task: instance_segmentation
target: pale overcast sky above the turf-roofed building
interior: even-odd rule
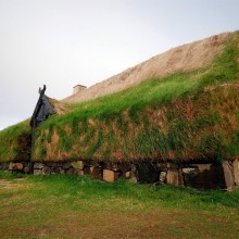
[[[0,0],[0,130],[173,47],[239,29],[238,0]]]

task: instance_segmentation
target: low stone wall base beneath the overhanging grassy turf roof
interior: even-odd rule
[[[25,162],[4,163],[0,164],[0,171],[29,173],[29,165]],[[231,190],[239,186],[239,161],[224,162],[222,165],[147,161],[136,163],[35,162],[34,174],[90,175],[93,179],[104,181],[125,178],[146,184],[160,183],[199,189],[227,188]]]

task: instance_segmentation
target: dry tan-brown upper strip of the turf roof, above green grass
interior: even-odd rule
[[[90,88],[74,93],[63,99],[62,102],[72,103],[91,100],[136,86],[153,77],[160,78],[173,73],[188,72],[206,66],[222,51],[230,34],[223,33],[203,40],[173,48]]]

